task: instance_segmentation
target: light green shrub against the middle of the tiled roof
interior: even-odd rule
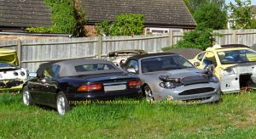
[[[96,24],[96,32],[98,35],[106,36],[141,35],[144,22],[143,14],[119,14],[112,24],[108,20]]]

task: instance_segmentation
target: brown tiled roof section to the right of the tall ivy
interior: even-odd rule
[[[183,0],[82,0],[90,22],[113,21],[117,14],[144,14],[148,26],[195,27]]]

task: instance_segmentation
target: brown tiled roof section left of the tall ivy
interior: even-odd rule
[[[0,27],[49,26],[50,17],[44,0],[0,0]]]

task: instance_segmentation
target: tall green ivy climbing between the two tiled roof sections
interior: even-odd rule
[[[51,8],[51,27],[32,27],[26,31],[41,33],[67,33],[84,36],[85,14],[77,3],[78,0],[44,0]]]

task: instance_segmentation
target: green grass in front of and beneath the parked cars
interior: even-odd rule
[[[90,104],[60,116],[0,95],[0,138],[254,138],[256,92],[200,105]]]

